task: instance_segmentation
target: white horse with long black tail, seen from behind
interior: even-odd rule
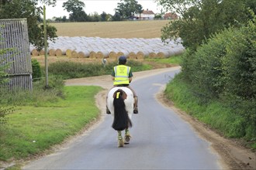
[[[133,104],[133,92],[128,87],[113,87],[109,90],[107,107],[113,116],[112,128],[118,132],[118,147],[130,143],[129,128],[132,127]],[[123,130],[125,130],[124,140]]]

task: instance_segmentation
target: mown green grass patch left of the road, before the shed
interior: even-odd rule
[[[65,98],[16,107],[2,126],[0,160],[39,154],[80,131],[99,116],[92,100],[99,90],[102,88],[64,87]]]

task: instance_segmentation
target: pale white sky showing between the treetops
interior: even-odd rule
[[[85,3],[85,12],[86,14],[91,14],[94,12],[98,12],[98,14],[102,14],[102,12],[106,12],[107,14],[114,15],[114,9],[117,7],[117,3],[120,0],[80,0]],[[56,6],[46,6],[46,17],[47,19],[52,19],[54,16],[63,17],[64,15],[69,16],[69,13],[62,8],[62,4],[67,2],[67,0],[57,0]],[[157,3],[154,0],[137,0],[138,4],[142,5],[145,10],[151,10],[154,13],[161,12],[161,7],[157,6]]]

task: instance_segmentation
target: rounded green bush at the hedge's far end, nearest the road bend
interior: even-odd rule
[[[182,68],[185,76],[189,77],[194,90],[203,100],[219,97],[223,91],[225,79],[221,61],[227,54],[227,43],[233,35],[225,30],[200,46],[195,53],[188,52],[184,57]]]

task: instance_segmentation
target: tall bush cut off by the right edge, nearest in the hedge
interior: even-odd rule
[[[223,58],[225,90],[237,97],[256,97],[256,19],[233,32],[227,44],[227,55]]]

